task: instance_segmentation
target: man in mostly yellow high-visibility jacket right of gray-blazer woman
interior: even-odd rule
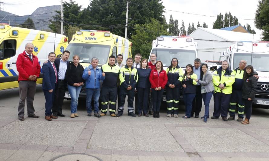
[[[222,61],[222,66],[213,72],[212,79],[214,84],[214,113],[212,119],[219,118],[228,121],[228,108],[232,95],[232,84],[235,82],[235,73],[228,69],[228,62]]]

